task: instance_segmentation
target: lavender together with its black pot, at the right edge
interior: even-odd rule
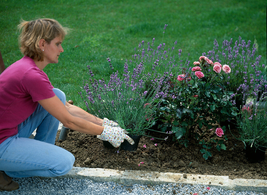
[[[256,94],[255,91],[253,95]],[[245,156],[250,162],[260,162],[265,159],[267,148],[266,98],[265,88],[260,101],[256,102],[257,96],[253,96],[238,113],[237,124],[240,137],[237,139],[244,143]]]

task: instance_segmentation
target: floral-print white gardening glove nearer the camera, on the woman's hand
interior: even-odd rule
[[[104,130],[101,133],[101,135],[97,135],[97,138],[108,141],[112,144],[114,147],[119,147],[120,144],[126,139],[131,145],[134,144],[134,141],[132,138],[130,138],[128,135],[126,135],[127,131],[120,127],[111,127],[104,125]]]

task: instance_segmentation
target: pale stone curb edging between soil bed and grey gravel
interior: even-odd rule
[[[116,182],[123,185],[160,185],[168,183],[199,184],[208,187],[234,191],[254,191],[267,193],[267,180],[229,179],[228,176],[163,173],[153,171],[114,170],[102,168],[73,167],[66,175],[52,179],[88,179],[94,182]]]

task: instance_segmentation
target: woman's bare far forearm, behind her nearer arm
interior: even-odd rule
[[[66,102],[65,107],[72,116],[77,116],[77,117],[80,117],[82,119],[88,120],[92,123],[95,123],[97,125],[102,126],[103,119],[100,119],[94,115],[91,115],[88,112],[86,112],[85,110],[83,110],[77,106],[74,106],[72,104],[69,104],[68,102]]]

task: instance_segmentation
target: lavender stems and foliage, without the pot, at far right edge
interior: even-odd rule
[[[267,72],[265,68],[263,74],[259,74],[255,64],[252,68],[255,71],[254,74],[244,75],[244,83],[237,89],[242,94],[244,105],[236,113],[240,135],[237,139],[245,145],[248,143],[251,147],[267,147],[267,81],[264,77]],[[250,82],[248,83],[247,80]]]

